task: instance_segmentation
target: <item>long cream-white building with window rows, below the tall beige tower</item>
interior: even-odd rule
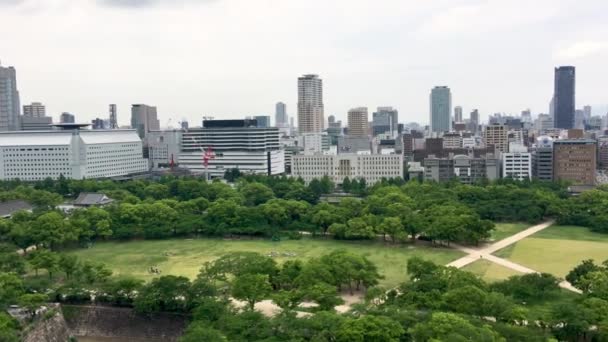
[[[346,177],[374,184],[382,178],[403,177],[403,156],[380,154],[298,155],[293,157],[292,175],[306,183],[328,176],[340,185]]]

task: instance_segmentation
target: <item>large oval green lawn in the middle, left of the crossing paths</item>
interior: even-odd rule
[[[116,275],[130,275],[141,279],[153,278],[148,270],[158,266],[162,274],[196,277],[201,266],[227,252],[250,251],[262,254],[293,252],[296,258],[319,257],[336,249],[367,256],[385,279],[382,286],[392,287],[407,280],[407,260],[423,257],[438,264],[447,264],[464,254],[450,249],[422,245],[389,245],[376,242],[343,242],[336,240],[302,239],[272,242],[269,240],[190,239],[161,241],[131,241],[98,243],[90,249],[70,252],[82,260],[103,262]],[[278,262],[290,258],[276,258]]]

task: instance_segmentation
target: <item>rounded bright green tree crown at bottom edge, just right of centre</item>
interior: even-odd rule
[[[344,321],[338,328],[336,340],[339,342],[397,342],[404,333],[405,330],[401,325],[388,317],[366,315]]]

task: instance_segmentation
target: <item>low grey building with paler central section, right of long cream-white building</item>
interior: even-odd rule
[[[500,161],[490,156],[475,158],[454,155],[449,158],[430,157],[424,160],[426,181],[447,182],[458,179],[463,184],[473,184],[484,179],[500,177]]]

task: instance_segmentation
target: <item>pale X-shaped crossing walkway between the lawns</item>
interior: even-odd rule
[[[489,246],[484,246],[481,248],[471,248],[471,247],[465,247],[465,246],[460,246],[460,245],[454,244],[454,245],[452,245],[452,247],[454,247],[464,253],[467,253],[467,255],[458,260],[452,261],[451,263],[447,264],[447,266],[463,268],[466,265],[474,263],[475,261],[485,259],[485,260],[493,262],[497,265],[500,265],[500,266],[503,266],[506,268],[510,268],[510,269],[515,270],[520,273],[539,273],[538,271],[535,271],[531,268],[522,266],[520,264],[516,264],[512,261],[509,261],[509,260],[506,260],[503,258],[499,258],[495,255],[492,255],[492,253],[494,253],[498,250],[501,250],[505,247],[508,247],[518,241],[521,241],[530,235],[536,234],[536,233],[540,232],[541,230],[550,227],[551,225],[553,225],[553,223],[554,223],[553,221],[547,221],[545,223],[541,223],[536,226],[532,226],[517,234],[511,235],[508,238],[505,238],[494,244],[491,244]],[[572,284],[570,284],[567,281],[561,282],[559,284],[559,286],[563,289],[566,289],[566,290],[569,290],[572,292],[581,293],[581,291],[579,289],[575,288],[574,286],[572,286]]]

